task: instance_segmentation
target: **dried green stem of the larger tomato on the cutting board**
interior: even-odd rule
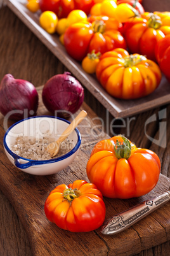
[[[131,156],[131,143],[129,142],[129,139],[122,135],[121,138],[123,139],[123,142],[120,142],[118,139],[116,140],[114,146],[115,155],[118,159],[128,159]]]

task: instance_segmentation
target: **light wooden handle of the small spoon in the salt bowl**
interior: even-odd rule
[[[67,127],[67,129],[65,129],[65,131],[62,133],[62,135],[60,136],[60,138],[57,139],[57,142],[62,142],[64,141],[67,136],[69,136],[70,133],[72,133],[72,131],[74,131],[75,127],[77,127],[78,124],[80,124],[80,122],[82,121],[82,119],[84,119],[84,117],[86,117],[87,112],[85,110],[82,110],[77,117],[74,118],[74,120],[72,120],[71,124]]]

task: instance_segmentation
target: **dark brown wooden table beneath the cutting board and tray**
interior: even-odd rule
[[[15,78],[29,80],[39,87],[51,76],[66,70],[63,64],[8,7],[0,9],[0,80],[6,73],[11,73]],[[87,90],[85,90],[84,101],[98,117],[104,120],[105,131],[110,136],[124,134],[131,138],[131,141],[135,141],[138,147],[150,148],[157,153],[162,164],[162,174],[170,178],[170,123],[168,118],[170,106],[162,106],[131,118],[115,120]],[[112,122],[112,127],[109,125],[110,122]],[[1,172],[3,172],[3,157],[4,154],[1,152]],[[22,221],[1,191],[0,200],[0,255],[34,255]],[[167,238],[169,236],[168,230]],[[168,252],[170,252],[170,243],[166,241],[161,245],[143,250],[138,255],[168,255]]]

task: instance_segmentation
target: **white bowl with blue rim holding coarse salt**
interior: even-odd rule
[[[70,122],[63,118],[50,116],[37,116],[20,120],[11,125],[8,131],[6,131],[3,141],[4,151],[11,163],[25,173],[34,175],[58,173],[58,171],[69,166],[79,151],[81,134],[77,128],[68,137],[74,143],[74,148],[61,157],[49,160],[30,160],[16,155],[10,148],[11,145],[15,144],[16,137],[18,136],[38,136],[42,138],[46,131],[49,131],[51,134],[55,132],[55,134],[61,135],[69,124]]]

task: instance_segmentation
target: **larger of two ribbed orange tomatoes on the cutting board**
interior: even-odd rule
[[[88,160],[87,174],[103,196],[139,197],[157,184],[160,160],[151,150],[136,148],[124,136],[114,136],[95,145]]]

